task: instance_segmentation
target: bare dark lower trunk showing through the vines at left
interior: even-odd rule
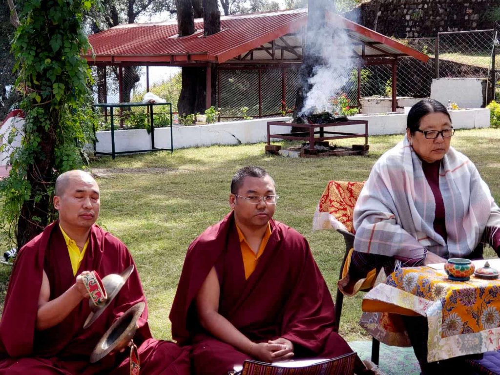
[[[59,126],[59,112],[52,110],[48,114],[48,121],[50,123],[48,131],[45,130],[43,125],[38,125],[36,129],[38,134],[43,134],[43,142],[39,143],[40,152],[36,153],[38,156],[29,164],[27,170],[27,180],[31,184],[31,196],[29,200],[25,200],[22,204],[19,219],[17,220],[16,241],[18,249],[39,234],[52,219],[49,214],[51,211],[51,194],[47,190],[52,187],[48,183],[48,181],[52,180],[51,175],[55,163],[56,139],[52,129]],[[41,155],[44,157],[40,157]],[[33,197],[37,193],[42,193],[42,198],[37,202],[33,202]],[[34,218],[39,218],[39,221]]]

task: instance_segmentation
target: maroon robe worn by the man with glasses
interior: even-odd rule
[[[193,301],[213,266],[220,284],[218,312],[250,340],[287,338],[295,357],[352,352],[334,330],[333,301],[307,241],[281,222],[271,219],[270,225],[265,250],[247,280],[232,212],[187,250],[170,320],[173,338],[192,344],[197,375],[222,375],[250,358],[198,323]]]

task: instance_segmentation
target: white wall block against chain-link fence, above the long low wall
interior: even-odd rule
[[[438,78],[432,79],[430,97],[444,106],[448,100],[460,108],[480,108],[483,104],[483,79],[480,78]]]

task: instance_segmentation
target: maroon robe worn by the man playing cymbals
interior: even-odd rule
[[[93,225],[76,274],[96,270],[105,276],[120,273],[130,264],[134,262],[125,245]],[[135,303],[145,302],[137,269],[90,327],[83,329],[90,313],[85,298],[60,323],[39,331],[35,328],[35,321],[42,270],[48,276],[50,300],[60,296],[75,282],[67,245],[57,221],[24,245],[14,262],[0,322],[0,374],[128,373],[128,350],[107,355],[94,364],[88,359],[113,321]],[[188,373],[187,350],[173,342],[151,338],[147,306],[137,324],[139,328],[134,342],[140,345],[139,356],[144,371],[150,374]]]

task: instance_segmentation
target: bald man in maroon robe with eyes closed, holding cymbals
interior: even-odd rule
[[[0,322],[0,374],[128,374],[128,350],[89,363],[89,355],[113,321],[144,292],[135,269],[104,312],[83,329],[90,313],[82,273],[120,273],[134,264],[125,245],[95,225],[99,187],[81,170],[62,173],[53,198],[59,219],[24,245],[14,262]],[[141,373],[189,373],[186,349],[155,340],[147,307],[133,337]]]

